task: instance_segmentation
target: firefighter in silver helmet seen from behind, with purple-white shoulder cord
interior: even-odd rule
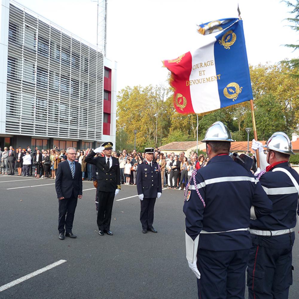
[[[251,212],[272,211],[257,179],[229,157],[232,141],[222,122],[213,123],[202,141],[209,167],[197,170],[185,193],[186,257],[201,299],[244,298]]]

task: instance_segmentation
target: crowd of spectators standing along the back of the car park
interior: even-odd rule
[[[82,180],[92,181],[92,165],[85,162],[85,157],[92,149],[77,150],[77,158],[75,161],[81,164]],[[39,178],[56,178],[56,170],[58,164],[66,160],[64,149],[54,147],[54,149],[42,149],[36,147],[33,151],[28,146],[27,149],[21,147],[14,150],[12,147],[4,151],[0,148],[0,173],[3,175],[12,175],[8,160],[11,156],[15,157],[14,169],[18,176],[35,176]],[[120,182],[125,185],[136,185],[136,172],[138,165],[144,161],[144,153],[112,152],[112,156],[118,158],[120,166]],[[209,158],[204,155],[197,155],[191,151],[188,156],[185,152],[179,155],[172,153],[162,153],[158,148],[155,149],[154,161],[156,161],[161,170],[162,186],[176,189],[185,188],[189,181],[192,171],[205,167]]]

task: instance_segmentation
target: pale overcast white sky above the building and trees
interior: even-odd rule
[[[18,2],[96,44],[97,1]],[[284,21],[290,8],[278,0],[108,0],[107,58],[118,62],[118,91],[164,83],[168,71],[161,60],[196,49],[196,25],[237,17],[238,3],[251,65],[298,57],[283,47],[298,43],[298,34]]]

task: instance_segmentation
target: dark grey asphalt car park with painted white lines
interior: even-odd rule
[[[84,181],[77,239],[59,240],[54,180],[0,175],[1,299],[197,298],[185,257],[183,191],[165,189],[157,199],[157,234],[141,232],[136,186],[122,185],[115,197],[113,236],[98,235],[94,198]],[[290,299],[298,298],[298,248],[297,236]]]

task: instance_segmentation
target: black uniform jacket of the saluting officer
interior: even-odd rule
[[[90,164],[94,164],[97,167],[97,190],[102,192],[112,192],[115,189],[120,189],[120,169],[119,161],[117,158],[112,158],[112,166],[108,170],[106,166],[105,157],[96,157],[94,151],[91,151],[86,156],[85,161]]]

